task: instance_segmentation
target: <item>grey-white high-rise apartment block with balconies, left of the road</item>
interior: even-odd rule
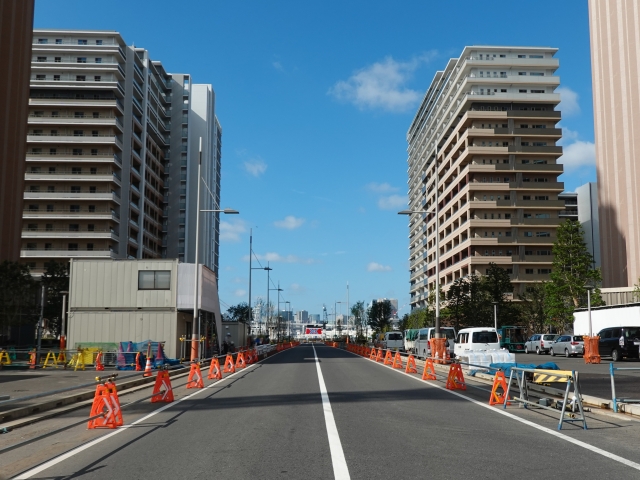
[[[210,85],[167,73],[117,32],[35,30],[28,128],[21,258],[34,273],[75,257],[193,262],[199,137],[213,199],[201,208],[219,204]],[[218,217],[207,221],[199,263],[217,275]]]

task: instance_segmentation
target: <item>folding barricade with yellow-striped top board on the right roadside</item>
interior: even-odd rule
[[[587,419],[584,416],[584,410],[582,408],[582,394],[580,393],[580,382],[578,381],[578,372],[574,370],[539,370],[536,368],[521,368],[511,367],[511,373],[509,374],[509,381],[507,382],[507,391],[505,398],[509,398],[509,392],[511,390],[511,382],[515,376],[518,382],[518,389],[520,391],[519,397],[511,398],[511,401],[520,402],[524,408],[528,405],[535,405],[536,408],[543,408],[546,410],[557,411],[557,409],[541,405],[540,403],[532,402],[529,400],[528,379],[527,377],[533,374],[534,380],[540,381],[542,378],[553,375],[556,379],[562,378],[566,382],[567,387],[564,392],[562,400],[562,408],[560,411],[560,419],[558,421],[558,430],[562,430],[562,424],[564,422],[582,422],[582,428],[587,429]],[[573,386],[573,399],[569,402],[570,389]],[[567,411],[568,404],[571,404],[571,412]],[[507,402],[503,404],[503,408],[507,408]],[[576,408],[578,412],[576,413]]]

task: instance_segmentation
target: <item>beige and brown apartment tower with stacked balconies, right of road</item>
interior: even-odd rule
[[[433,212],[410,217],[412,308],[490,262],[516,294],[549,279],[564,209],[556,51],[466,47],[436,73],[407,133],[409,207]]]

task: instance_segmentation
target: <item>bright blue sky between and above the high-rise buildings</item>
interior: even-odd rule
[[[248,300],[249,230],[293,310],[409,310],[405,134],[466,45],[559,48],[567,190],[595,181],[585,0],[36,0],[36,28],[119,31],[216,92],[223,127],[220,299]],[[259,266],[254,262],[254,266]],[[252,298],[266,297],[254,270]],[[272,292],[271,299],[275,300]],[[284,305],[281,304],[284,308]]]

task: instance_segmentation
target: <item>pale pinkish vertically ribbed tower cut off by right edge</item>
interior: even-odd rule
[[[602,286],[640,276],[640,14],[637,0],[589,0]]]

